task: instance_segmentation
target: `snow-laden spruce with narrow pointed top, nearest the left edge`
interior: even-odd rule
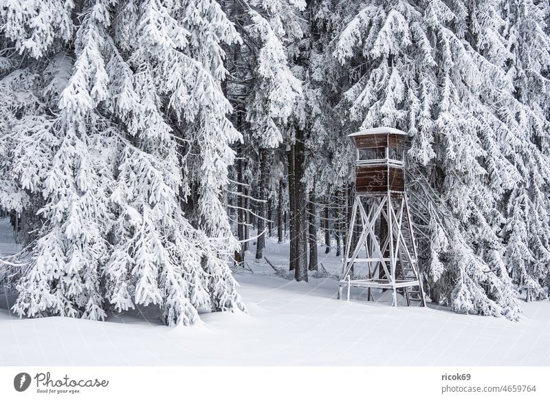
[[[107,98],[107,76],[94,29],[85,21],[78,30],[72,76],[59,96],[52,93],[58,100],[56,115],[25,115],[14,126],[21,131],[14,173],[23,190],[43,197],[37,210],[43,225],[17,285],[13,309],[19,315],[105,317],[100,276],[109,254],[104,232],[112,221],[109,192],[117,138],[109,121],[94,112]],[[47,47],[38,43],[28,52],[42,56]],[[50,67],[68,69],[63,58]]]

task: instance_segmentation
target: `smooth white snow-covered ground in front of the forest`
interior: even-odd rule
[[[268,241],[267,258],[286,267],[288,245]],[[320,261],[338,267],[331,252]],[[523,303],[525,315],[457,315],[444,307],[389,307],[356,289],[336,300],[337,281],[274,275],[264,261],[235,275],[244,313],[203,314],[203,324],[168,328],[150,307],[107,322],[19,320],[14,293],[0,290],[1,365],[550,365],[550,301]]]

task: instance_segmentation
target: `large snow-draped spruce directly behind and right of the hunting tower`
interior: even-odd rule
[[[499,236],[505,200],[516,187],[525,190],[533,173],[520,164],[538,159],[536,173],[543,173],[547,161],[532,145],[533,132],[518,129],[522,114],[501,113],[511,103],[524,114],[533,109],[516,99],[507,74],[514,55],[503,34],[502,3],[377,1],[353,11],[348,2],[333,8],[326,1],[320,10],[336,11],[327,24],[336,26],[335,56],[357,71],[344,93],[349,118],[364,128],[409,131],[412,173],[426,177],[442,197],[434,207],[448,208],[456,219],[445,229],[442,221],[428,225],[430,235],[439,226],[447,239],[443,246],[426,243],[432,297],[455,311],[516,319],[519,306],[509,280],[491,265],[494,251],[507,251]],[[527,144],[513,153],[511,138]]]

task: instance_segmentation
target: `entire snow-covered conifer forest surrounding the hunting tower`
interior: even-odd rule
[[[262,266],[343,304],[348,135],[380,126],[428,305],[548,304],[548,0],[0,0],[5,310],[238,320]]]

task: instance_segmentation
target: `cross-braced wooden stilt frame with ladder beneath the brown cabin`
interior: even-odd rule
[[[351,252],[349,238],[353,235],[358,213],[362,231],[355,249]],[[380,219],[388,227],[384,243],[380,243],[375,233],[375,226]],[[362,248],[365,250],[366,257],[358,258]],[[373,298],[372,288],[390,289],[393,291],[392,305],[397,306],[397,290],[400,289],[408,305],[410,300],[419,300],[420,305],[425,307],[426,301],[417,259],[417,246],[406,193],[388,191],[380,196],[355,196],[346,252],[342,260],[342,278],[338,285],[338,298],[342,298],[344,287],[347,287],[347,300],[349,300],[351,287],[367,288],[369,300]],[[354,278],[354,263],[366,263],[368,271],[366,278]]]

